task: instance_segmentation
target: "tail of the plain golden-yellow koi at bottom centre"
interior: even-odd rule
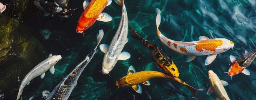
[[[197,91],[203,91],[204,89],[196,89],[196,88],[194,88],[194,87],[192,87],[192,86],[190,86],[190,85],[188,85],[186,82],[183,82],[181,79],[179,79],[178,77],[175,77],[174,78],[177,82],[179,82],[179,83],[181,83],[181,84],[183,84],[183,85],[185,85],[187,88],[188,88],[188,90],[195,96],[195,98],[196,99],[198,99],[198,100],[201,100],[200,99],[200,97],[197,95]]]

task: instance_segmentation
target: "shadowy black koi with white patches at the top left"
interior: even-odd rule
[[[45,0],[34,0],[34,5],[38,9],[44,11],[44,16],[58,15],[60,17],[69,18],[75,11],[68,6],[58,5],[56,2],[48,2]]]

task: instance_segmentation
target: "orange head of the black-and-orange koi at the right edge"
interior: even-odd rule
[[[228,69],[228,75],[233,77],[234,75],[239,74],[242,72],[244,67],[241,67],[237,61],[232,62],[231,66]]]

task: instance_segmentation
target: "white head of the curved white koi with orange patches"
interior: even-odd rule
[[[233,49],[234,47],[234,42],[225,38],[217,38],[217,40],[221,40],[222,44],[216,48],[215,53],[222,53],[225,52],[229,49]]]

